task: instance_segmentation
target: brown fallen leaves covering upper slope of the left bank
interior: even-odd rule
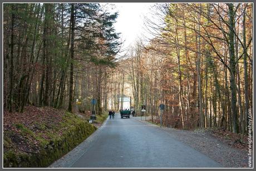
[[[48,134],[53,133],[51,128],[56,127],[63,120],[63,115],[65,115],[64,110],[35,106],[27,106],[23,113],[4,112],[3,133],[10,139],[11,144],[4,147],[4,151],[12,149],[14,152],[39,152],[40,141],[35,136],[49,140],[51,137]],[[62,131],[57,134],[61,136]]]

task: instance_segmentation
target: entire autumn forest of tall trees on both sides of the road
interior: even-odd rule
[[[26,106],[119,110],[124,84],[164,126],[247,134],[253,108],[253,3],[160,3],[117,58],[118,13],[97,3],[3,4],[4,115]],[[146,43],[147,42],[147,43]]]

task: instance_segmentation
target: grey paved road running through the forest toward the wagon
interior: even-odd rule
[[[86,149],[68,167],[72,168],[215,168],[213,159],[176,141],[155,125],[135,118],[109,118],[89,138]]]

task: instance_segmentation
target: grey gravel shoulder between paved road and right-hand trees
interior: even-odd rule
[[[132,117],[135,120],[152,125],[150,122],[141,121],[140,117]],[[227,143],[220,141],[212,136],[208,131],[196,129],[195,131],[159,127],[169,134],[170,137],[177,139],[206,156],[219,162],[227,168],[244,168],[248,167],[247,151],[229,146]]]

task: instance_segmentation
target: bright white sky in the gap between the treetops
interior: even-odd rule
[[[134,44],[138,37],[148,34],[144,27],[145,16],[150,15],[150,9],[154,3],[111,3],[114,11],[119,12],[114,25],[116,32],[121,33],[121,41],[124,42],[122,50]],[[124,55],[125,51],[119,53]]]

